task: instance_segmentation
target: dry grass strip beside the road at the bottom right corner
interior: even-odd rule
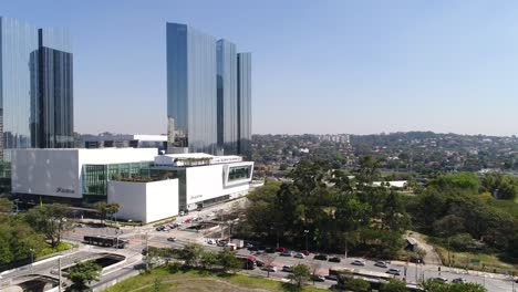
[[[435,246],[435,250],[438,252],[443,264],[448,265],[447,249]],[[494,270],[496,269],[497,272],[500,273],[505,271],[515,271],[515,273],[518,273],[518,265],[503,262],[498,259],[497,255],[494,254],[450,251],[450,255],[454,259],[452,267],[455,268],[465,268],[466,264],[468,264],[468,268],[470,270],[481,271],[484,264],[485,271],[487,272],[494,272]],[[480,262],[478,264],[469,263],[470,259],[478,259],[480,260]]]

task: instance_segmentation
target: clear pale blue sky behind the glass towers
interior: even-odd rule
[[[518,132],[518,1],[2,0],[68,27],[75,129],[166,132],[165,22],[253,53],[253,133]]]

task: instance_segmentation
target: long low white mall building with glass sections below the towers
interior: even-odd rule
[[[75,205],[116,201],[117,218],[144,223],[248,194],[252,161],[156,153],[156,148],[20,149],[12,159],[12,194]]]

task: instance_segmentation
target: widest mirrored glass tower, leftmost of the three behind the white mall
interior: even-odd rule
[[[173,152],[217,153],[216,39],[179,23],[166,24],[167,118]]]

